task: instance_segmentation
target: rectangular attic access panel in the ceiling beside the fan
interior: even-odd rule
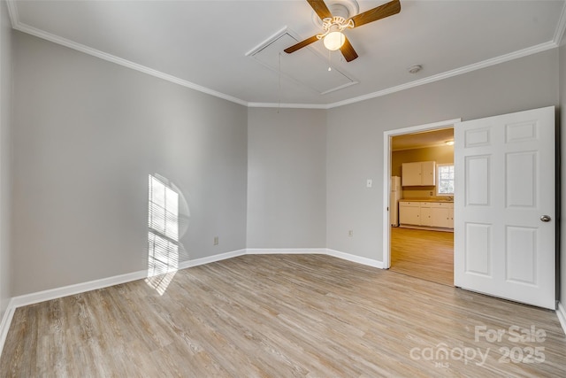
[[[293,54],[283,51],[297,42],[299,42],[298,39],[285,29],[246,55],[256,59],[258,63],[275,73],[279,73],[280,66],[282,76],[320,95],[357,84],[357,81],[338,68],[332,67],[332,71],[328,71],[328,58],[323,58],[314,50],[306,48],[295,51]],[[336,59],[340,51],[338,53],[334,51],[334,54],[332,58]]]

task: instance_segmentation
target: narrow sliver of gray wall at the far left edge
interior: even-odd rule
[[[0,2],[0,319],[11,298],[11,24]]]

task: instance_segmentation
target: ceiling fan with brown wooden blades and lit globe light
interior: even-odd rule
[[[333,16],[323,0],[307,0],[312,9],[317,13],[318,17],[322,19],[323,33],[313,35],[310,38],[302,42],[298,42],[291,47],[288,47],[284,51],[290,54],[296,50],[302,49],[305,46],[310,45],[312,42],[317,42],[318,40],[323,40],[325,47],[328,50],[339,50],[346,58],[347,62],[357,58],[356,50],[352,47],[352,44],[348,41],[348,37],[342,33],[346,28],[361,27],[362,25],[368,24],[378,19],[385,19],[386,17],[393,16],[401,12],[401,4],[399,0],[393,0],[389,3],[379,5],[369,11],[362,12],[349,17],[348,10],[346,10],[345,15]],[[344,17],[345,16],[345,17]]]

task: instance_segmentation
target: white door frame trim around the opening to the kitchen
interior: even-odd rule
[[[391,180],[391,138],[397,135],[414,134],[423,131],[438,130],[441,128],[455,127],[461,118],[454,120],[441,120],[439,122],[427,123],[411,127],[387,130],[383,133],[383,268],[391,267],[391,225],[389,224],[389,195]],[[456,145],[454,146],[456,149]]]

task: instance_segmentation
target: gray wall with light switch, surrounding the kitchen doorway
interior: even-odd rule
[[[555,49],[332,109],[327,122],[327,247],[383,258],[384,131],[558,105],[557,77]],[[366,179],[373,179],[373,188],[365,188]],[[348,237],[348,229],[354,237]]]

